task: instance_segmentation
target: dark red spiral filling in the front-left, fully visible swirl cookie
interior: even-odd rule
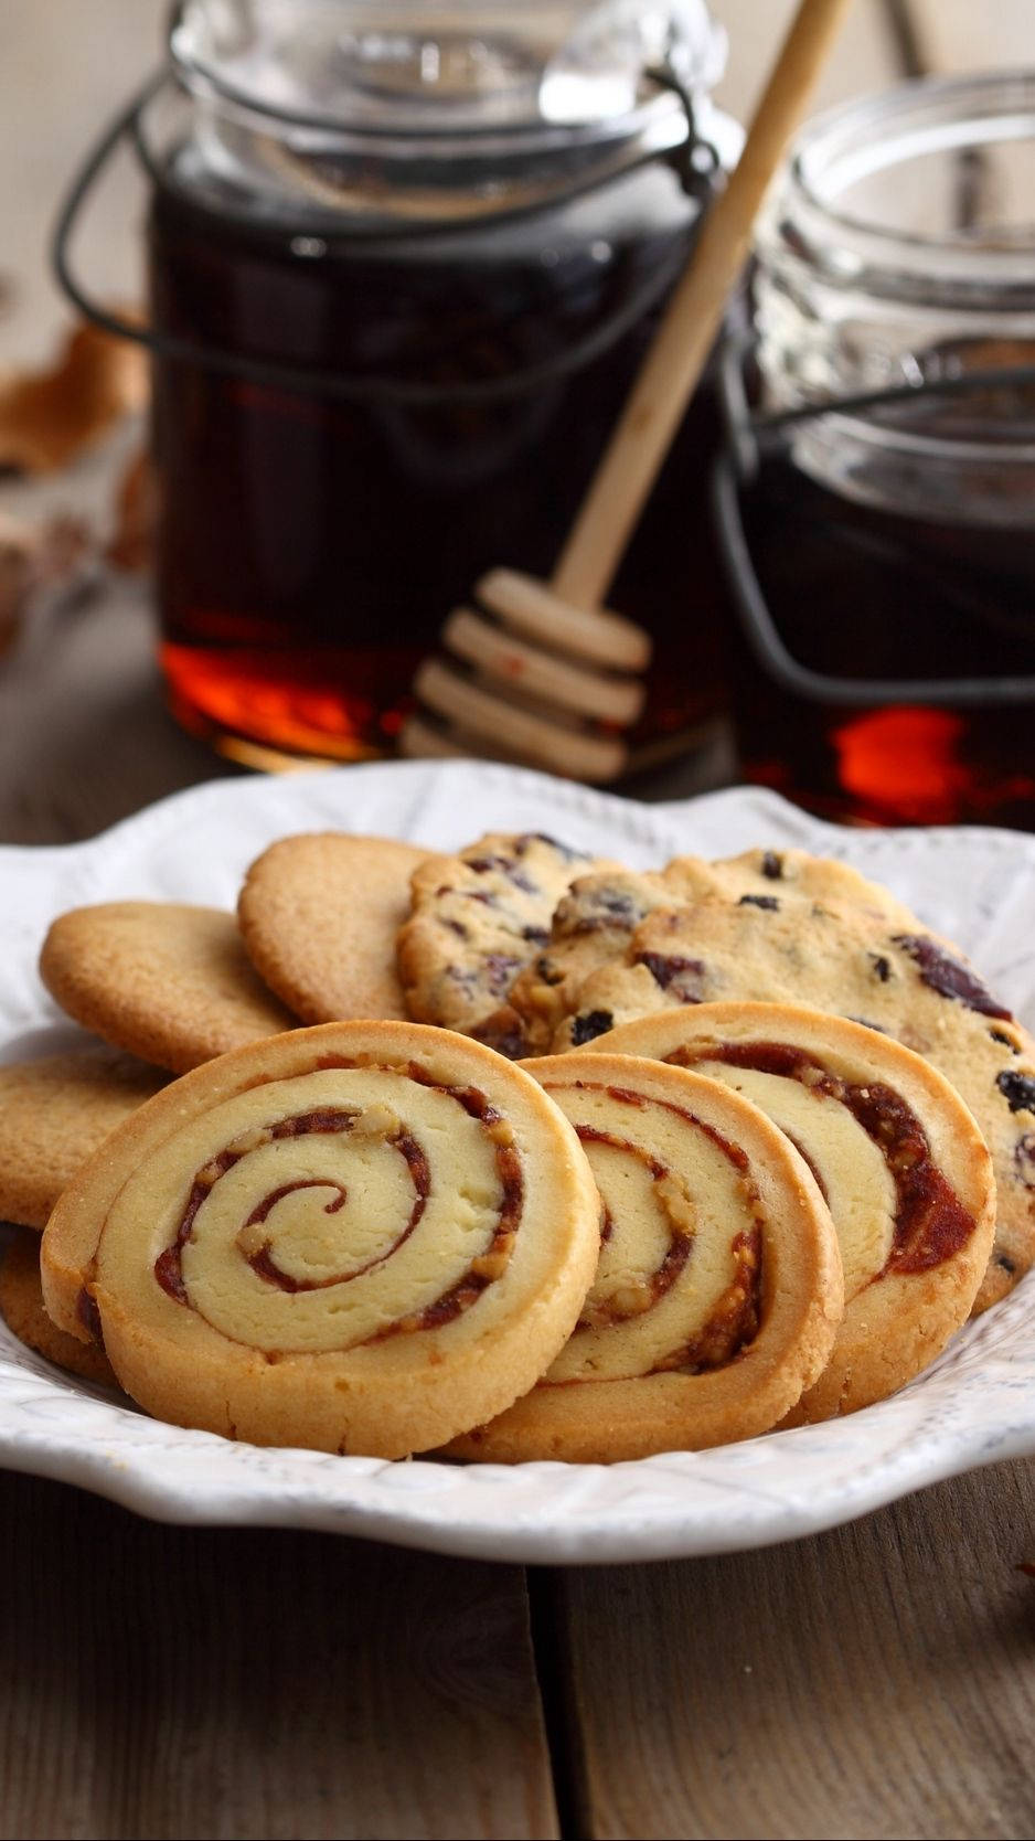
[[[405,1066],[383,1066],[368,1059],[350,1062],[337,1057],[324,1057],[313,1071],[326,1073],[339,1068],[348,1071],[363,1070],[400,1075],[401,1079],[411,1079],[424,1088],[431,1088],[446,1095],[462,1106],[468,1117],[481,1127],[492,1147],[492,1165],[495,1169],[501,1200],[488,1245],[483,1245],[483,1250],[470,1259],[462,1274],[448,1285],[438,1298],[416,1311],[405,1313],[390,1324],[378,1327],[363,1340],[381,1342],[394,1335],[436,1329],[470,1309],[488,1285],[503,1278],[510,1263],[525,1200],[525,1180],[521,1160],[514,1143],[514,1132],[503,1114],[479,1088],[453,1086],[436,1081],[435,1075],[416,1062]],[[250,1272],[269,1287],[285,1294],[330,1291],[333,1287],[344,1287],[354,1279],[374,1272],[378,1267],[385,1267],[387,1261],[405,1246],[425,1215],[427,1200],[433,1189],[433,1173],[427,1152],[418,1143],[416,1136],[400,1123],[389,1105],[376,1101],[368,1106],[357,1105],[355,1108],[317,1106],[247,1129],[195,1171],[175,1237],[171,1245],[158,1254],[153,1267],[157,1283],[169,1298],[188,1309],[195,1309],[182,1268],[184,1250],[192,1243],[199,1211],[208,1202],[217,1184],[249,1154],[260,1152],[263,1147],[276,1141],[304,1140],[313,1136],[350,1136],[357,1141],[365,1140],[366,1145],[387,1145],[392,1149],[401,1158],[407,1171],[413,1193],[409,1215],[400,1224],[398,1233],[389,1241],[389,1245],[379,1246],[361,1263],[344,1270],[320,1272],[319,1276],[298,1276],[285,1270],[285,1267],[278,1261],[269,1217],[280,1202],[304,1189],[330,1189],[331,1195],[330,1200],[322,1204],[322,1213],[335,1215],[348,1202],[348,1184],[339,1176],[322,1173],[295,1176],[293,1180],[282,1182],[262,1195],[241,1221],[241,1226],[236,1230],[236,1250]],[[96,1314],[90,1292],[85,1291],[83,1296],[90,1302],[92,1314]]]

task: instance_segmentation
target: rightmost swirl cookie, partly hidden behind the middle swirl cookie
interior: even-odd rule
[[[838,1230],[845,1314],[792,1423],[869,1407],[941,1353],[989,1263],[994,1180],[971,1112],[930,1062],[790,1003],[663,1011],[595,1046],[729,1083],[816,1175]]]

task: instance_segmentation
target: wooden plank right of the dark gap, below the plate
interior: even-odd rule
[[[578,1832],[1035,1832],[1035,1465],[759,1554],[556,1576]]]

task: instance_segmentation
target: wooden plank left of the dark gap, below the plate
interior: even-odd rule
[[[0,1832],[551,1837],[523,1572],[0,1476]]]

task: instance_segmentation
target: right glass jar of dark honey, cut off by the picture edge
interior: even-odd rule
[[[755,241],[716,475],[742,771],[1035,827],[1035,74],[816,118]]]

